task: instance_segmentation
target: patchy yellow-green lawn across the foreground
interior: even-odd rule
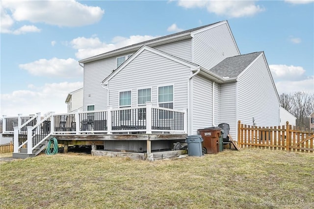
[[[0,164],[1,208],[310,209],[314,155],[225,150],[153,162],[86,154]]]

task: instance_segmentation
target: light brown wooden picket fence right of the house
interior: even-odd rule
[[[238,121],[237,143],[242,148],[313,153],[314,131],[292,129],[288,121],[286,126],[278,127],[254,127]]]

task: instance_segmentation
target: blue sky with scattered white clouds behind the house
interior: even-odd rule
[[[67,112],[78,60],[227,20],[241,54],[265,53],[280,94],[314,93],[314,1],[0,1],[0,116]],[[258,75],[257,75],[258,76]]]

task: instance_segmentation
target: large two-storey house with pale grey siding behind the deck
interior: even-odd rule
[[[278,126],[279,96],[263,52],[241,55],[227,21],[159,37],[79,61],[83,110],[187,109],[187,134],[237,122]],[[253,125],[253,124],[252,124]]]

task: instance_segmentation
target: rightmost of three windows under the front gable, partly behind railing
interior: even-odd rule
[[[173,109],[173,85],[158,87],[158,104],[160,107]],[[160,119],[173,118],[172,112],[161,110],[159,111]]]

